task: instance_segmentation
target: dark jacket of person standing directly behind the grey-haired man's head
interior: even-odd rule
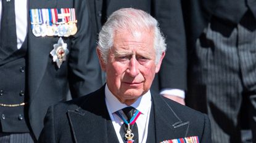
[[[159,21],[160,29],[167,41],[167,52],[159,74],[155,76],[152,90],[163,88],[186,89],[186,39],[180,0],[91,0],[91,23],[93,25],[93,48],[96,47],[97,34],[107,17],[115,10],[133,7],[141,9]],[[98,66],[99,67],[99,66]],[[105,79],[102,78],[103,83]]]

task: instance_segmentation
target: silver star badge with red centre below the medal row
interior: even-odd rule
[[[60,37],[57,44],[53,45],[54,49],[50,52],[52,55],[52,61],[57,63],[58,68],[60,68],[63,61],[67,59],[67,54],[69,53],[67,49],[67,44],[64,43]]]

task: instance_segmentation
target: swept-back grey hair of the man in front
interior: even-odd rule
[[[113,46],[115,31],[124,29],[131,31],[131,33],[141,29],[145,31],[154,29],[155,63],[157,64],[162,53],[166,50],[165,38],[160,32],[159,23],[143,10],[133,8],[115,11],[102,26],[97,44],[104,63],[107,63],[109,50]]]

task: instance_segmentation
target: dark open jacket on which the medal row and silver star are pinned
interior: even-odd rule
[[[74,36],[62,37],[70,53],[67,60],[57,68],[50,55],[59,37],[35,37],[28,21],[27,88],[29,122],[36,137],[43,128],[47,108],[67,97],[68,88],[73,98],[85,95],[101,87],[96,85],[97,71],[91,61],[89,49],[89,9],[84,0],[30,0],[28,9],[75,8],[78,31]],[[29,18],[30,19],[30,18]]]

